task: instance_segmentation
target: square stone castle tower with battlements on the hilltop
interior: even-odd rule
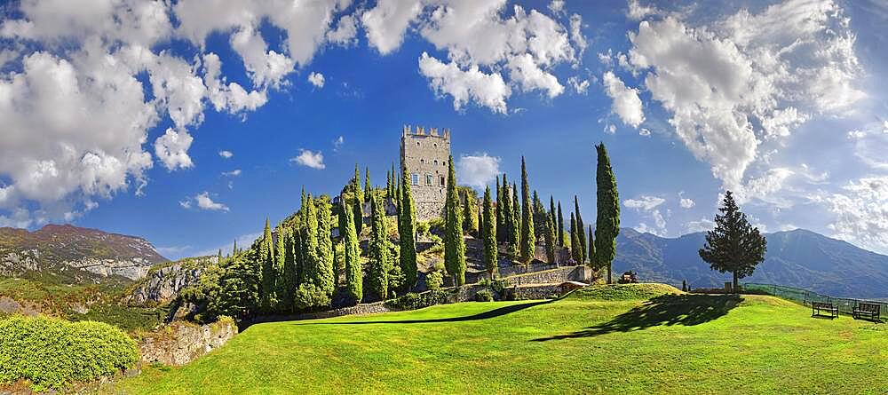
[[[416,219],[427,221],[441,217],[447,194],[450,130],[412,129],[404,126],[400,138],[400,162],[410,174]]]

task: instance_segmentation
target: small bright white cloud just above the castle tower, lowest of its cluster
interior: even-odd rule
[[[498,73],[484,74],[478,66],[463,70],[454,62],[444,64],[425,52],[419,58],[419,70],[430,79],[436,94],[453,97],[456,110],[473,100],[496,113],[506,113],[505,99],[511,96],[511,89]]]

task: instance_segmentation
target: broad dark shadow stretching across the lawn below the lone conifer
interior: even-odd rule
[[[533,342],[592,337],[613,332],[631,332],[662,325],[700,325],[727,314],[743,301],[739,295],[657,296],[613,320],[566,335],[541,337]]]

